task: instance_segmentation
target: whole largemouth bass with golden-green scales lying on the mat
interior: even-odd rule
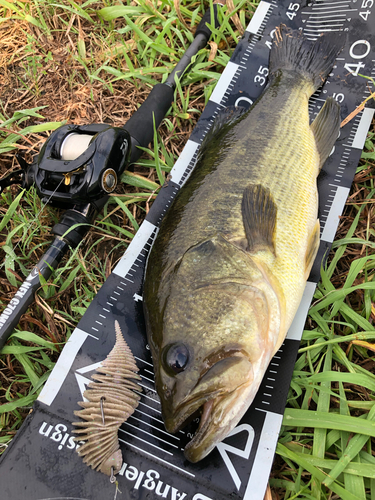
[[[337,33],[276,29],[266,88],[215,120],[150,252],[144,313],[165,428],[201,414],[190,462],[241,420],[301,301],[320,241],[317,176],[340,128],[333,98],[311,125],[308,101],[342,46]]]

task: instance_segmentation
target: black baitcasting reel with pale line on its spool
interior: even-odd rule
[[[23,162],[22,187],[35,185],[42,201],[58,208],[95,205],[115,190],[129,157],[130,136],[123,128],[63,125],[50,135],[35,162]]]

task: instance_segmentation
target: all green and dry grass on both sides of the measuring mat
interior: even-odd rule
[[[256,4],[236,0],[246,26]],[[4,90],[0,173],[30,161],[61,123],[121,126],[167,78],[205,5],[156,0],[0,0]],[[188,26],[185,27],[184,23]],[[134,171],[68,255],[0,356],[0,451],[10,442],[87,306],[134,237],[227,64],[239,32],[226,15],[196,56]],[[375,499],[375,233],[369,133],[352,197],[309,312],[270,479],[279,498]],[[59,211],[35,191],[0,196],[0,309],[51,240]],[[2,265],[2,263],[4,265]]]

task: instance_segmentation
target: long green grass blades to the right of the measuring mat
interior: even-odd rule
[[[352,190],[360,194],[347,205],[322,269],[295,365],[277,447],[287,467],[271,479],[283,498],[375,495],[373,137]]]

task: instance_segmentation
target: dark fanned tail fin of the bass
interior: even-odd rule
[[[296,71],[312,82],[315,92],[327,78],[343,46],[342,33],[327,32],[311,41],[301,31],[281,25],[276,29],[271,49],[270,76],[279,70]]]

